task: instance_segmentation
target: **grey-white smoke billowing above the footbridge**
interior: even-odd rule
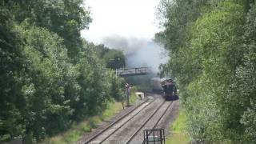
[[[156,74],[158,66],[168,60],[165,50],[151,40],[113,35],[103,38],[103,43],[110,48],[122,50],[126,55],[127,67],[149,66]]]

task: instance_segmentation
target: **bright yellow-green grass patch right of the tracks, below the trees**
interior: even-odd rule
[[[190,138],[186,134],[186,113],[180,110],[178,118],[170,126],[172,133],[166,139],[166,144],[186,144],[190,142]]]

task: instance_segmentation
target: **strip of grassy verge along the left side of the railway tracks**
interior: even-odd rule
[[[59,134],[53,138],[46,138],[42,143],[49,144],[66,144],[78,141],[82,138],[83,134],[90,132],[97,128],[97,126],[105,120],[109,120],[115,114],[122,110],[121,102],[111,102],[108,104],[106,110],[101,115],[87,118],[84,122],[74,123],[70,130],[63,134]]]

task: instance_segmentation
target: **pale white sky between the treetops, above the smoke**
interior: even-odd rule
[[[85,0],[93,22],[82,37],[91,42],[119,35],[150,40],[159,31],[155,11],[159,0]]]

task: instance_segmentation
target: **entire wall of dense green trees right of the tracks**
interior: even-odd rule
[[[256,142],[256,3],[162,0],[169,50],[162,70],[178,81],[188,132],[198,142]]]

